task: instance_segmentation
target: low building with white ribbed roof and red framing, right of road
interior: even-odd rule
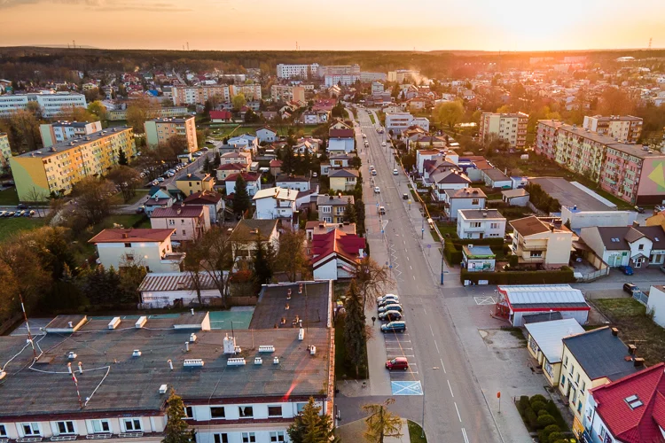
[[[495,315],[522,326],[523,315],[552,311],[584,324],[590,310],[582,291],[569,284],[515,284],[498,287]]]

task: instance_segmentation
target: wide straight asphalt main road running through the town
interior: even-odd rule
[[[370,237],[384,237],[389,264],[403,300],[413,354],[410,360],[417,365],[425,392],[428,439],[465,443],[501,441],[446,307],[447,297],[463,296],[465,290],[453,279],[446,286],[439,284],[438,274],[426,262],[421,231],[408,213],[411,211],[413,215],[418,209],[402,198],[403,192],[408,192],[407,179],[401,170],[399,175],[393,175],[392,156],[387,156],[390,148],[381,146],[386,135],[376,132],[362,110],[358,112],[358,120],[370,144],[369,152],[364,146],[361,149],[363,176],[369,177],[364,190],[367,224],[376,224],[378,218],[376,211],[371,210],[372,205],[379,203],[386,207],[385,234],[370,232]],[[378,175],[370,175],[369,165],[377,168]],[[379,186],[379,194],[373,193],[374,185]]]

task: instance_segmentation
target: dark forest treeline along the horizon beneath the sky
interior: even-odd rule
[[[273,74],[278,63],[318,63],[350,65],[363,71],[387,72],[395,69],[419,69],[427,77],[471,76],[489,63],[498,69],[528,68],[529,58],[587,56],[589,61],[611,63],[614,58],[663,58],[665,50],[603,51],[165,51],[104,50],[90,48],[4,47],[0,48],[0,78],[8,80],[55,80],[69,71],[132,72],[161,67],[194,72],[219,69],[227,73],[243,68],[261,68]],[[35,79],[35,71],[38,71]]]

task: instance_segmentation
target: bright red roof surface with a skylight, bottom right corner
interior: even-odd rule
[[[626,443],[665,442],[665,363],[591,389],[596,412],[616,439]],[[630,408],[626,401],[637,395],[643,404]]]

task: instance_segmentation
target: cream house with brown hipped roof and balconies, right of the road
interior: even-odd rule
[[[520,265],[544,268],[567,266],[573,246],[573,232],[559,222],[550,222],[531,215],[510,221],[512,253]]]

